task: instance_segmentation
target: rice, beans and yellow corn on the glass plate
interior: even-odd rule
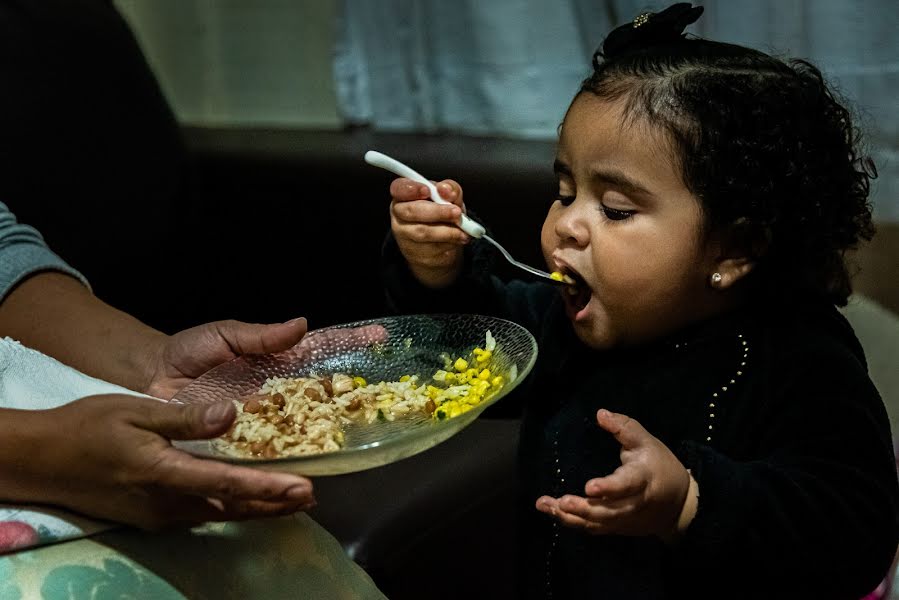
[[[514,366],[498,372],[496,352],[488,331],[484,346],[467,356],[441,355],[443,368],[426,381],[403,375],[397,381],[368,383],[348,373],[272,377],[251,396],[234,401],[237,418],[212,443],[236,457],[304,456],[339,450],[350,425],[376,427],[380,421],[425,415],[435,421],[452,419],[515,378]]]

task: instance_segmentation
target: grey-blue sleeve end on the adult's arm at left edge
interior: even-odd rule
[[[23,225],[0,202],[0,302],[29,275],[60,271],[90,287],[84,276],[53,253],[33,227]]]

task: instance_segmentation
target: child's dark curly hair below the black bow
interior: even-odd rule
[[[668,134],[705,234],[755,260],[754,294],[846,304],[846,252],[874,234],[877,173],[815,66],[684,38],[596,59],[579,93],[622,99]]]

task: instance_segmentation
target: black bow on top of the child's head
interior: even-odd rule
[[[593,67],[599,66],[599,57],[614,58],[631,50],[683,39],[684,29],[696,22],[702,10],[701,6],[678,2],[661,12],[643,13],[633,22],[616,27],[593,54]]]

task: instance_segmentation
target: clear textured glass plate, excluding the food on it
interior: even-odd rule
[[[372,383],[397,381],[402,375],[418,375],[421,382],[428,382],[444,367],[441,354],[454,359],[471,354],[484,346],[488,330],[496,339],[493,371],[506,375],[507,381],[494,396],[457,417],[438,421],[416,415],[349,425],[340,450],[299,457],[236,458],[215,449],[209,440],[172,444],[204,458],[310,476],[362,471],[412,456],[461,431],[527,376],[537,359],[537,342],[525,328],[482,315],[411,315],[335,325],[308,334],[290,350],[246,355],[219,365],[172,400],[185,404],[237,400],[256,392],[269,377],[338,372]]]

